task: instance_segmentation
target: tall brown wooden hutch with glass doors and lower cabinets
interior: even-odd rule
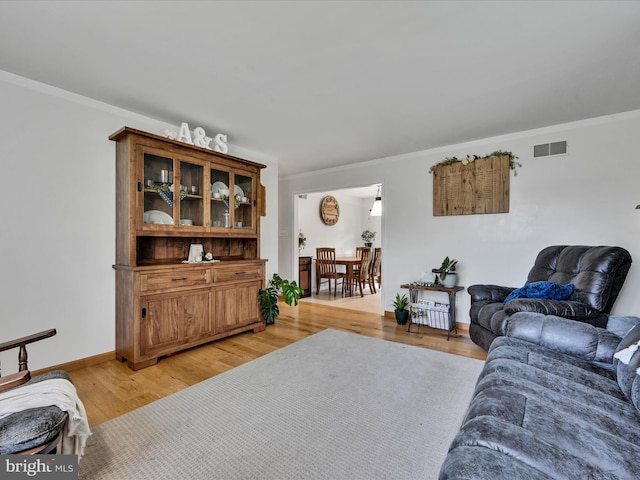
[[[257,295],[264,165],[124,127],[116,142],[116,357],[265,329]],[[215,262],[186,263],[192,244]]]

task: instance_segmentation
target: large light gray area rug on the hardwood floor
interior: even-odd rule
[[[96,426],[79,477],[434,479],[482,366],[325,330]]]

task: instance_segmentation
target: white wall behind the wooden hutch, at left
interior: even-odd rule
[[[0,105],[1,339],[57,328],[28,347],[32,369],[113,351],[115,143],[108,137],[125,125],[158,134],[177,127],[2,71]],[[176,125],[188,121],[184,115]],[[261,253],[274,272],[277,163],[233,144],[229,153],[269,165]],[[17,358],[17,350],[0,355],[4,373],[17,369]]]

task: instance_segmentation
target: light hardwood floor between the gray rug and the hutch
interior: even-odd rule
[[[246,332],[185,350],[135,372],[114,359],[70,371],[69,375],[87,409],[90,425],[95,426],[326,328],[486,358],[486,352],[471,342],[466,331],[453,334],[447,341],[443,330],[421,326],[418,333],[408,333],[406,325],[369,312],[317,303],[289,307],[281,302],[276,323],[263,332]],[[416,328],[414,325],[412,330]]]

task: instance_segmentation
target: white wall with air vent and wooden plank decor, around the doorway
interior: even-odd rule
[[[382,183],[386,310],[402,283],[447,255],[459,260],[458,283],[465,287],[521,286],[536,254],[555,244],[619,245],[640,263],[638,132],[640,111],[634,111],[283,178],[279,228],[281,234],[294,228],[297,193]],[[533,145],[561,140],[569,155],[531,158]],[[498,149],[512,151],[523,165],[511,175],[510,212],[434,217],[429,168],[445,157]],[[295,254],[281,237],[281,273],[292,271]],[[613,313],[640,315],[639,268],[631,267]],[[469,304],[467,293],[458,295],[459,321],[469,321]]]

